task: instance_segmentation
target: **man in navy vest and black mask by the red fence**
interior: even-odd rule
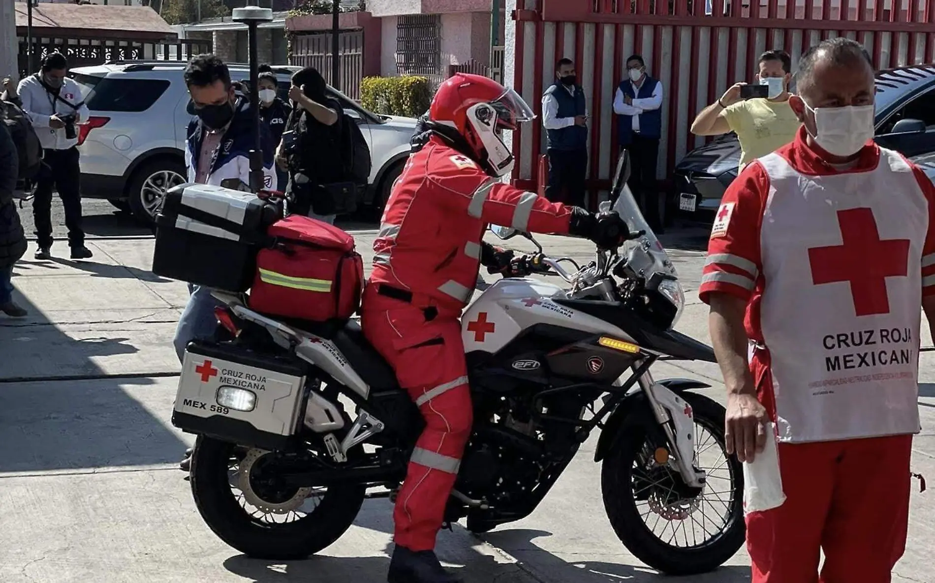
[[[587,104],[578,84],[575,64],[555,65],[555,82],[542,95],[542,125],[548,137],[549,185],[545,196],[554,203],[584,206],[587,175]]]

